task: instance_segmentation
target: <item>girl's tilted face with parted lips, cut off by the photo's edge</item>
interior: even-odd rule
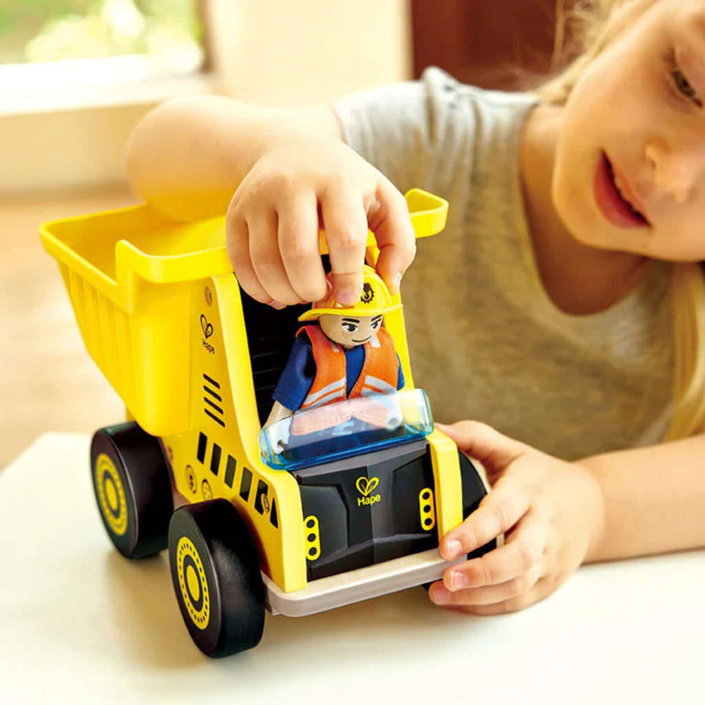
[[[705,0],[627,0],[563,110],[553,202],[577,240],[705,259]]]

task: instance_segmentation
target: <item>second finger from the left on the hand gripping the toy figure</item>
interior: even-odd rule
[[[275,302],[292,305],[300,302],[289,283],[279,254],[278,217],[272,209],[247,216],[250,233],[250,259],[262,288]]]

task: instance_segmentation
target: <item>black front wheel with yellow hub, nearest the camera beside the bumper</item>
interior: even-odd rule
[[[206,656],[229,656],[259,644],[264,583],[257,546],[230,502],[214,499],[174,512],[169,564],[183,620]]]

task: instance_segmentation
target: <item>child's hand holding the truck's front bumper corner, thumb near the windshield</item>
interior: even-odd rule
[[[505,543],[481,558],[448,568],[429,596],[474,614],[520,610],[551,594],[601,538],[604,501],[585,467],[513,441],[485,424],[439,428],[484,465],[492,490],[479,508],[448,532],[439,551],[452,560],[499,534]]]

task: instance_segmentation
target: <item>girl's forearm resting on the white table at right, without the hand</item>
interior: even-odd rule
[[[587,561],[705,546],[705,436],[580,461],[605,502],[601,540]]]

